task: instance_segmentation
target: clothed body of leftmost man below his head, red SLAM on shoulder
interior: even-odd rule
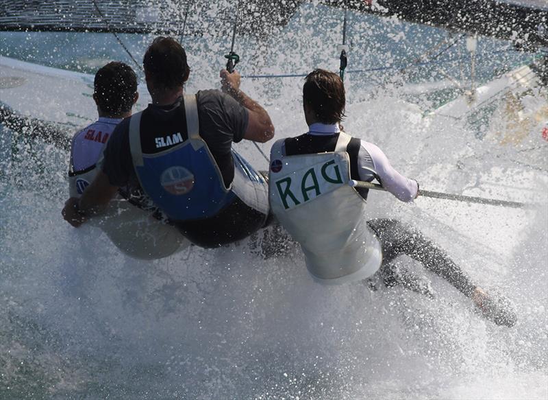
[[[115,123],[105,126],[102,120],[105,119],[99,119],[73,138],[69,169],[71,197],[81,197],[101,168],[103,150],[116,127]],[[120,196],[111,200],[100,216],[90,218],[89,223],[101,228],[121,252],[134,259],[160,259],[190,245],[174,226],[156,220],[150,212],[129,204]]]

